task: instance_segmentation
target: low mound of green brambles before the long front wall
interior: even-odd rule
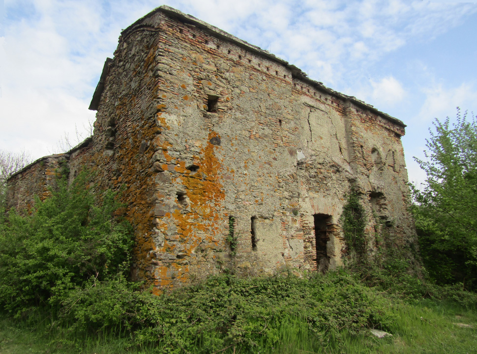
[[[381,297],[342,271],[304,278],[222,275],[149,301],[153,306],[138,315],[147,325],[136,340],[154,344],[150,353],[263,353],[280,345],[280,328],[290,324],[317,344],[334,338],[339,345],[344,331],[388,329],[393,319]]]

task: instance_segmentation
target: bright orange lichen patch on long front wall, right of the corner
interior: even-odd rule
[[[155,283],[160,288],[172,287],[175,281],[187,282],[190,277],[188,260],[200,257],[196,253],[198,246],[209,248],[218,247],[219,228],[217,222],[223,218],[221,203],[225,199],[225,192],[220,175],[222,166],[216,157],[218,145],[213,145],[213,138],[220,139],[216,132],[209,132],[207,144],[200,150],[200,154],[193,157],[194,164],[199,166],[198,171],[191,172],[186,168],[185,161],[177,161],[174,173],[178,175],[176,182],[181,186],[186,201],[176,201],[176,208],[157,219],[156,227],[167,232],[167,220],[172,221],[175,232],[168,235],[164,244],[156,247],[159,254],[175,255],[169,261],[158,261],[155,266]],[[179,195],[178,195],[179,198]],[[200,259],[196,260],[201,262]]]

